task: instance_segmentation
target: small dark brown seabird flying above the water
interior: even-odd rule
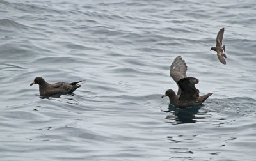
[[[217,52],[217,56],[218,56],[220,62],[225,65],[226,61],[225,61],[224,57],[227,58],[227,56],[226,56],[226,54],[223,54],[223,52],[225,52],[225,45],[222,46],[223,34],[224,34],[224,28],[220,29],[219,33],[217,34],[216,47],[212,47],[211,50],[214,50]]]

